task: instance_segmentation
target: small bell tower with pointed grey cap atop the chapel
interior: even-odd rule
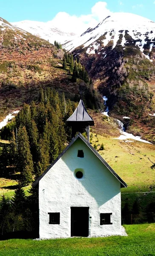
[[[75,109],[72,116],[66,122],[72,127],[72,138],[75,137],[77,132],[83,133],[86,131],[87,140],[89,142],[89,126],[94,126],[94,120],[86,111],[83,100],[80,99],[78,107]]]

